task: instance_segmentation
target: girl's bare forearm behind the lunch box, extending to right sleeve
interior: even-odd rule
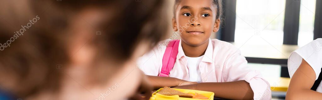
[[[234,82],[208,82],[198,83],[187,86],[177,86],[174,88],[194,89],[202,91],[211,91],[215,97],[224,99],[253,99],[253,91],[249,83],[244,80]]]

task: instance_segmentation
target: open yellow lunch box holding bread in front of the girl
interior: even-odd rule
[[[189,93],[189,94],[198,93],[198,94],[201,94],[201,95],[204,95],[204,96],[208,97],[208,99],[194,99],[194,98],[179,97],[179,95],[161,95],[161,94],[158,94],[157,92],[159,92],[161,89],[163,89],[163,88],[160,88],[159,90],[154,92],[152,94],[152,96],[150,97],[150,100],[213,100],[213,96],[215,95],[215,93],[208,92],[208,91],[172,88],[172,89],[175,89],[175,90],[183,92],[183,93]]]

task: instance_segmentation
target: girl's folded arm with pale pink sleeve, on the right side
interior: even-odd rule
[[[217,77],[222,77],[218,79],[219,82],[198,83],[175,88],[212,91],[215,97],[225,99],[271,99],[269,83],[261,77],[258,71],[247,67],[247,61],[240,55],[240,51],[234,52],[226,59],[222,75]]]

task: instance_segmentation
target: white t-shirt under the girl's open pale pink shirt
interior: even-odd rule
[[[201,83],[202,80],[199,70],[199,64],[204,55],[200,57],[185,57],[187,58],[187,67],[189,69],[189,81]]]

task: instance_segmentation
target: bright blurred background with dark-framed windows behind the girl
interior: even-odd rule
[[[168,0],[169,18],[173,1]],[[299,47],[322,38],[322,0],[223,0],[223,23],[212,39],[234,44],[249,66],[270,82],[273,99],[285,99],[287,59]],[[175,36],[168,20],[167,37]],[[180,39],[180,37],[176,37]]]

